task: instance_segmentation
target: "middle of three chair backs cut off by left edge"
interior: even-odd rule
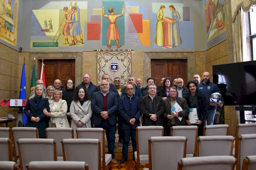
[[[0,161],[12,161],[12,143],[9,138],[0,138]]]

